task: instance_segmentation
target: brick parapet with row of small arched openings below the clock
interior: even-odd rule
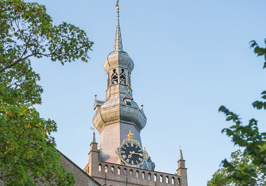
[[[85,171],[103,186],[187,186],[187,169],[178,169],[179,174],[169,174],[158,171],[145,170],[115,163],[99,161],[97,143],[91,144],[89,163]],[[182,162],[184,166],[184,160]],[[120,174],[119,174],[119,171]],[[124,175],[125,170],[125,175]],[[144,173],[144,179],[142,178]],[[137,176],[138,174],[138,176]],[[168,179],[168,181],[167,181]],[[173,179],[173,182],[172,182]],[[173,183],[173,184],[172,184]]]

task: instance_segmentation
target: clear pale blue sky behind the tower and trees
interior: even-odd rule
[[[44,88],[37,110],[57,122],[59,151],[84,168],[94,95],[105,97],[102,64],[113,50],[116,0],[38,2],[54,24],[75,24],[95,43],[88,63],[62,66],[31,59]],[[266,89],[264,59],[249,49],[251,40],[264,46],[265,8],[265,0],[120,0],[123,49],[135,63],[133,97],[144,104],[147,117],[142,144],[156,171],[176,172],[180,144],[188,185],[206,185],[221,160],[237,149],[221,134],[231,123],[218,113],[220,105],[240,114],[244,123],[254,117],[266,131],[265,111],[251,106]]]

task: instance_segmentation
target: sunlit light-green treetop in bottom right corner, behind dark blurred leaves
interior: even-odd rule
[[[262,147],[265,149],[266,146]],[[229,163],[232,166],[235,166],[237,170],[241,172],[242,175],[250,177],[251,179],[255,180],[256,185],[264,185],[265,183],[265,174],[261,166],[256,166],[252,163],[252,156],[250,155],[243,155],[241,150],[237,150],[231,153],[231,157]],[[217,186],[217,185],[224,185],[224,186],[242,186],[242,185],[249,185],[249,181],[245,180],[234,180],[230,175],[230,167],[223,167],[218,169],[213,175],[212,179],[207,182],[207,186]],[[258,175],[258,176],[257,176]]]

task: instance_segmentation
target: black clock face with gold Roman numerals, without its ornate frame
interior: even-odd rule
[[[121,158],[130,165],[139,165],[143,162],[143,150],[133,142],[126,142],[121,147]]]

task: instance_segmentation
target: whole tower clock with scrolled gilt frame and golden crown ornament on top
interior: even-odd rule
[[[148,159],[148,153],[140,146],[140,142],[133,138],[133,134],[129,131],[127,139],[116,148],[116,153],[126,166],[139,168],[140,165]]]

